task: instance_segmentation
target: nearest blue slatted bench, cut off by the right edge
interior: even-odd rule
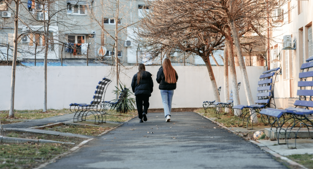
[[[313,129],[313,57],[306,60],[306,63],[301,65],[302,72],[299,73],[300,81],[298,82],[299,90],[297,95],[299,100],[296,100],[295,107],[286,108],[284,110],[266,108],[263,109],[260,114],[266,115],[268,121],[271,121],[270,131],[274,131],[278,140],[278,144],[288,144],[289,139],[296,139],[301,128],[306,128],[309,132],[308,137],[310,138],[310,129]],[[290,124],[286,122],[289,121]],[[296,132],[295,130],[296,129]],[[287,134],[288,133],[288,134]],[[280,135],[283,135],[285,143],[280,143]],[[288,144],[289,147],[289,144]]]

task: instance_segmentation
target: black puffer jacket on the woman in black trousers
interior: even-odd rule
[[[134,75],[133,80],[131,81],[131,89],[135,93],[135,96],[138,94],[146,94],[151,96],[153,92],[153,81],[151,73],[144,71],[141,75],[141,80],[139,85],[137,84],[137,73]]]

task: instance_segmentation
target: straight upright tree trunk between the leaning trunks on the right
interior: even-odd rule
[[[229,97],[229,82],[228,82],[228,48],[224,48],[224,101],[228,101]],[[225,108],[225,113],[231,114],[231,109]]]

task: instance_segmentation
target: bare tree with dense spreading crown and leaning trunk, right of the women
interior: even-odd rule
[[[210,22],[195,23],[208,15],[205,11],[189,9],[191,6],[188,3],[160,0],[150,2],[149,5],[153,10],[138,24],[141,48],[146,49],[151,59],[162,58],[162,54],[174,51],[200,56],[208,69],[214,98],[220,102],[210,56],[214,50],[223,50],[225,39],[222,34]]]

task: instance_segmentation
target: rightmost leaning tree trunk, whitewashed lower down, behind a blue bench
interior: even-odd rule
[[[235,43],[235,49],[236,49],[236,53],[237,53],[237,57],[238,57],[238,61],[239,61],[239,67],[240,67],[240,71],[241,71],[241,75],[242,75],[242,79],[243,79],[243,84],[244,84],[244,91],[246,93],[246,98],[247,98],[248,104],[251,105],[251,104],[254,104],[254,102],[253,102],[253,97],[252,97],[252,93],[251,93],[251,89],[250,89],[250,85],[249,85],[249,79],[248,79],[246,66],[244,64],[244,57],[243,57],[242,51],[241,51],[241,45],[240,45],[238,30],[237,30],[237,27],[235,25],[234,20],[229,19],[228,23],[230,26],[231,33],[233,35],[233,41]],[[250,112],[250,114],[251,113],[252,112]],[[256,117],[255,113],[251,115],[251,120],[253,123],[258,122],[258,118]]]

